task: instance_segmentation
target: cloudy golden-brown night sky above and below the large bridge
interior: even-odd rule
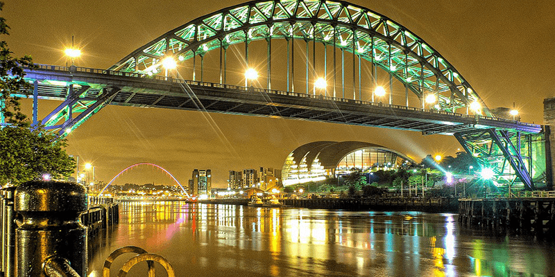
[[[6,1],[15,55],[65,65],[71,35],[78,66],[105,69],[140,46],[188,21],[243,1]],[[409,28],[446,58],[490,109],[515,107],[522,121],[543,124],[543,99],[555,96],[555,4],[543,1],[358,1]],[[199,4],[202,3],[202,4]],[[255,54],[253,54],[255,55]],[[265,55],[265,53],[264,53]],[[216,57],[216,56],[214,56]],[[301,61],[299,61],[302,64]],[[207,61],[207,64],[208,61]],[[217,70],[217,64],[210,66]],[[238,72],[243,69],[236,69]],[[184,78],[191,79],[190,76]],[[232,80],[229,83],[241,85]],[[209,82],[217,82],[207,80]],[[27,103],[26,103],[27,104]],[[41,101],[40,116],[59,102]],[[31,111],[28,111],[31,115]],[[453,155],[452,136],[281,118],[108,106],[69,134],[69,154],[110,181],[137,162],[156,163],[187,184],[194,168],[210,168],[213,186],[228,170],[281,168],[287,154],[312,141],[366,141],[408,154]],[[116,183],[173,184],[160,170],[137,168]]]

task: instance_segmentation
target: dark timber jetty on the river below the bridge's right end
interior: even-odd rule
[[[527,192],[510,198],[462,198],[459,222],[484,229],[554,234],[555,192]]]

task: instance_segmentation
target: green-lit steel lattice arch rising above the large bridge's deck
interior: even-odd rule
[[[425,98],[433,94],[437,99],[436,109],[450,112],[466,109],[468,114],[472,108],[477,114],[492,116],[461,73],[432,46],[392,19],[345,1],[250,1],[224,8],[170,30],[133,51],[110,69],[155,75],[164,71],[161,66],[165,57],[183,62],[239,43],[246,44],[248,65],[249,42],[262,39],[268,41],[268,53],[271,39],[287,39],[288,44],[291,39],[302,39],[307,42],[307,49],[309,42],[312,42],[334,46],[342,53],[353,53],[359,59],[371,62],[373,76],[376,75],[375,69],[381,68],[390,74],[391,86],[393,78],[400,80],[406,90],[407,106],[410,90],[416,93],[422,107],[425,106]],[[309,53],[307,76],[308,57]],[[268,57],[268,60],[271,59]],[[271,76],[271,66],[268,66],[268,76]],[[271,87],[270,79],[268,88]],[[287,83],[289,89],[289,69]],[[308,83],[307,77],[307,92]],[[335,87],[334,77],[334,96]],[[353,94],[356,99],[356,91]]]

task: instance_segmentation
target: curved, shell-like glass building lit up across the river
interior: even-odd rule
[[[299,146],[285,159],[284,186],[323,181],[346,175],[352,168],[363,172],[395,170],[403,163],[416,164],[404,154],[360,141],[316,141]]]

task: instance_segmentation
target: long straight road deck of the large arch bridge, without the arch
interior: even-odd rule
[[[113,93],[102,100],[110,105],[283,117],[422,134],[488,128],[529,134],[542,131],[541,125],[486,116],[76,66],[39,65],[39,69],[26,69],[26,80],[35,83],[37,98],[61,101],[69,97],[69,84],[79,84],[85,92],[78,101],[97,101],[103,89],[110,89]],[[33,91],[26,93],[33,95]]]

